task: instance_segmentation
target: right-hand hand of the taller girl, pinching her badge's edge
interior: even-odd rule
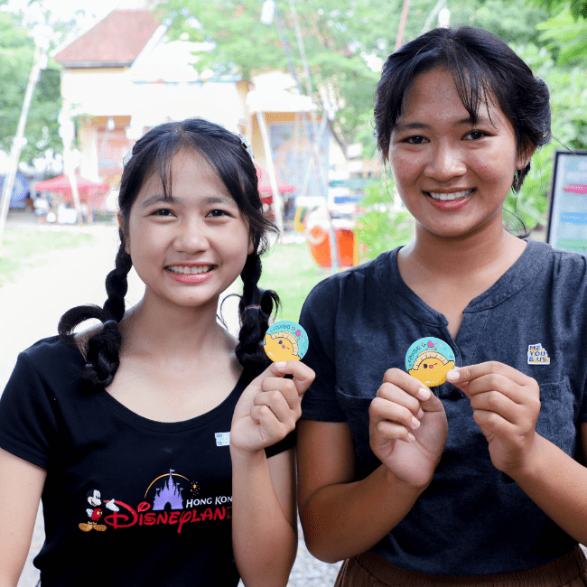
[[[536,379],[497,361],[454,368],[446,378],[471,400],[473,419],[489,443],[491,462],[514,478],[536,441],[540,413]]]

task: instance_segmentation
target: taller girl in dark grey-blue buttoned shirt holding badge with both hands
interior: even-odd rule
[[[387,58],[375,121],[415,238],[303,307],[306,544],[345,559],[337,587],[584,587],[587,258],[502,220],[550,138],[545,82],[439,28]]]

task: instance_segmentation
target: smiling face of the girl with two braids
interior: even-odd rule
[[[146,285],[145,299],[210,304],[240,275],[253,251],[247,220],[210,164],[183,149],[172,161],[172,198],[152,174],[138,192],[126,250]],[[123,227],[124,229],[124,227]]]

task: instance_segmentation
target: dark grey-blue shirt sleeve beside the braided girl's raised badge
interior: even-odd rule
[[[316,285],[303,304],[300,316],[309,343],[303,362],[316,374],[302,400],[302,417],[308,420],[347,421],[336,398],[337,284],[326,279]]]

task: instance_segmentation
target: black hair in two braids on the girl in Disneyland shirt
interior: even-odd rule
[[[81,322],[90,318],[103,322],[103,327],[88,340],[87,363],[81,376],[83,387],[107,387],[116,375],[122,343],[118,322],[125,314],[126,276],[133,266],[126,252],[125,237],[130,210],[144,182],[154,173],[161,179],[164,198],[171,199],[173,156],[182,149],[193,149],[204,157],[247,219],[253,252],[247,256],[240,274],[243,295],[238,304],[241,328],[236,354],[243,366],[262,367],[268,362],[261,342],[271,314],[278,308],[279,297],[272,290],[260,290],[258,281],[260,256],[268,246],[268,234],[277,229],[263,215],[256,166],[241,137],[202,118],[188,118],[155,126],[135,143],[120,180],[118,207],[124,229],[118,230],[120,247],[116,264],[106,278],[107,301],[102,308],[83,305],[61,316],[59,334],[69,343],[75,342],[73,331]]]

